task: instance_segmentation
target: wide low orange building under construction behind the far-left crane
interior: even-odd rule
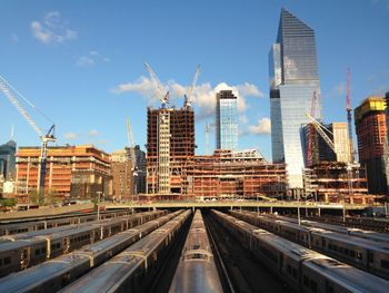
[[[19,147],[17,196],[27,202],[38,187],[40,147]],[[94,199],[112,196],[109,155],[92,145],[48,147],[46,194],[64,198]]]

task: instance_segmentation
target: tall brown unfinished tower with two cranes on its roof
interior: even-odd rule
[[[194,156],[191,107],[147,109],[147,192],[181,194],[182,173]]]

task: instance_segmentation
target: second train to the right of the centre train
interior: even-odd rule
[[[389,279],[389,243],[350,237],[322,228],[232,211],[231,215],[361,270]]]

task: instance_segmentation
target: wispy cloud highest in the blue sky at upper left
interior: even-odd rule
[[[67,22],[58,11],[46,13],[41,21],[32,21],[31,31],[34,38],[43,43],[63,43],[78,37],[76,30],[67,27]]]

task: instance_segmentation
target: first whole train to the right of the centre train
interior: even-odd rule
[[[295,292],[388,292],[389,282],[221,212],[211,215]]]

